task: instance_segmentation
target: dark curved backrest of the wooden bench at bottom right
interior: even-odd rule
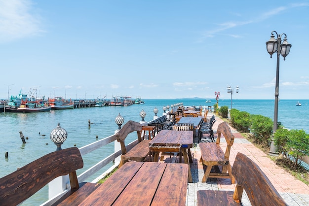
[[[253,206],[287,205],[265,173],[246,155],[237,153],[232,174],[237,180],[233,195],[234,200],[241,200],[244,189]]]

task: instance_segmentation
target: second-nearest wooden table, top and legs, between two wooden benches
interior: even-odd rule
[[[181,148],[184,161],[189,167],[188,182],[193,182],[189,163],[189,161],[193,162],[190,151],[190,148],[193,147],[192,137],[192,131],[162,130],[149,142],[151,150],[154,152],[154,162],[158,161],[159,152],[177,152],[177,149]]]

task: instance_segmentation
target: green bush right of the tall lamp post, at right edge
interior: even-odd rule
[[[274,144],[284,161],[295,168],[309,155],[309,135],[304,130],[278,129],[274,134]]]

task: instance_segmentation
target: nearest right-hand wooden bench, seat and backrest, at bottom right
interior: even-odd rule
[[[264,172],[246,155],[237,153],[232,174],[237,181],[234,192],[199,190],[197,205],[241,206],[242,192],[245,190],[252,206],[287,206]]]

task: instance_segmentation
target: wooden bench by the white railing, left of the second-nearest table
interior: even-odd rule
[[[127,135],[133,131],[137,132],[138,143],[129,151],[127,151],[124,140]],[[149,157],[150,139],[143,139],[141,133],[142,125],[140,123],[128,121],[116,134],[117,141],[120,142],[122,152],[119,168],[127,161],[146,161],[146,159]]]

